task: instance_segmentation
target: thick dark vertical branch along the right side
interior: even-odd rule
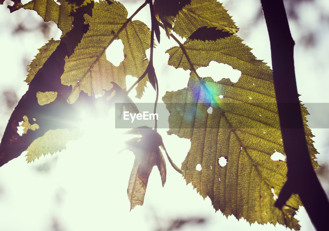
[[[284,150],[287,156],[287,181],[275,206],[282,208],[291,194],[297,193],[317,230],[325,230],[328,198],[313,169],[305,138],[295,79],[293,47],[282,0],[261,0],[268,30],[273,80]]]

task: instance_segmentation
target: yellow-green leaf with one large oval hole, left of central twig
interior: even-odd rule
[[[80,91],[89,96],[103,94],[112,87],[110,82],[126,88],[126,76],[139,77],[148,65],[145,51],[150,48],[150,30],[138,21],[127,19],[127,10],[116,1],[95,3],[92,17],[85,15],[89,31],[83,36],[74,54],[66,59],[62,84],[72,85],[69,103],[75,102]],[[125,59],[116,67],[106,60],[105,50],[115,39],[124,45]],[[147,78],[139,82],[137,98],[143,94]]]

